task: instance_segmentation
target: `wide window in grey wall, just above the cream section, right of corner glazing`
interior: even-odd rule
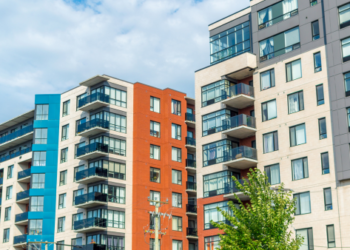
[[[260,61],[266,61],[300,48],[299,27],[287,30],[260,43]]]

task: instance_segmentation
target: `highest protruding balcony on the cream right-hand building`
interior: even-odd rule
[[[244,83],[238,83],[228,89],[226,98],[222,101],[226,106],[244,109],[254,105],[254,88]]]

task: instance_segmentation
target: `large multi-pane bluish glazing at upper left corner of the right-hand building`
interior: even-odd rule
[[[250,51],[249,21],[210,37],[210,63]]]

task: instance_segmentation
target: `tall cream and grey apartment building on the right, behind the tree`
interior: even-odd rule
[[[251,0],[209,25],[195,73],[198,249],[251,168],[297,200],[301,249],[350,247],[350,2]],[[228,223],[228,222],[227,222]]]

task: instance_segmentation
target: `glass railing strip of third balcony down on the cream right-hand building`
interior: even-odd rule
[[[220,154],[219,154],[220,153]],[[257,154],[255,148],[250,148],[246,146],[236,147],[231,150],[225,150],[223,152],[209,154],[212,159],[204,160],[203,166],[214,165],[222,162],[233,161],[240,158],[248,158],[252,160],[257,160]]]

